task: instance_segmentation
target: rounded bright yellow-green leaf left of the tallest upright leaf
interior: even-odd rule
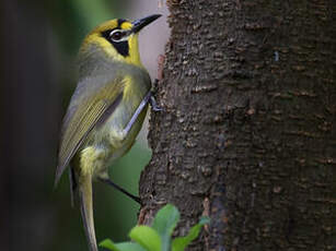
[[[129,237],[148,251],[161,251],[160,236],[149,226],[134,227],[129,232]]]

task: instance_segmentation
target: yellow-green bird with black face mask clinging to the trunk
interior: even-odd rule
[[[115,186],[108,165],[135,143],[148,103],[158,109],[140,61],[138,32],[160,16],[103,23],[85,37],[79,51],[79,80],[63,119],[55,186],[69,165],[71,192],[79,194],[91,251],[97,251],[92,181]]]

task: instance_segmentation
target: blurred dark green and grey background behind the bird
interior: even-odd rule
[[[67,175],[53,189],[61,118],[76,87],[76,55],[85,34],[101,22],[166,12],[159,5],[149,0],[1,1],[0,250],[86,250]],[[140,36],[142,61],[152,77],[167,36],[164,19]],[[114,181],[138,193],[149,159],[142,132],[111,169]],[[120,241],[136,224],[139,206],[95,183],[94,208],[97,240]]]

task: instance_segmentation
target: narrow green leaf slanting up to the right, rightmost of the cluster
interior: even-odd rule
[[[192,227],[189,234],[185,237],[177,237],[173,240],[172,250],[173,251],[183,251],[193,240],[195,240],[201,227],[206,224],[209,224],[210,219],[208,217],[201,217],[199,223]]]

